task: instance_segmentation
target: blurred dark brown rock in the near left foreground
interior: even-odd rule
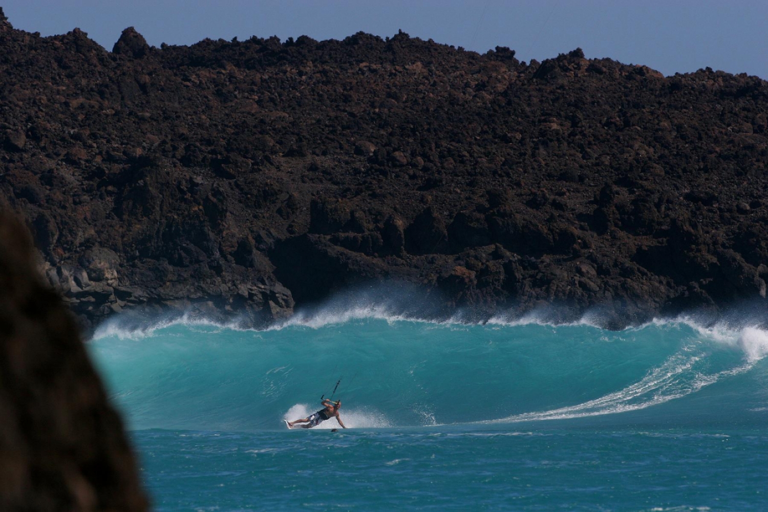
[[[147,510],[120,418],[34,258],[0,213],[0,510]]]

